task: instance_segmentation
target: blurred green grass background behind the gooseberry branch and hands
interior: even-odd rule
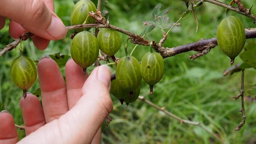
[[[97,4],[97,0],[92,0]],[[72,0],[54,0],[56,14],[63,20],[66,26],[70,26],[70,14],[74,6]],[[228,4],[230,1],[222,0]],[[256,0],[243,1],[246,8],[255,4]],[[110,24],[140,34],[143,30],[143,22],[152,20],[152,11],[158,4],[162,4],[162,10],[171,7],[165,16],[170,17],[170,23],[176,22],[186,11],[185,2],[182,0],[109,0],[102,1],[102,10],[107,10]],[[216,37],[216,29],[219,22],[226,17],[224,8],[205,2],[195,9],[198,20],[198,31],[193,14],[188,14],[174,27],[163,46],[172,48],[200,40]],[[256,8],[252,7],[252,13],[256,14]],[[231,12],[238,17],[245,28],[254,28],[253,20]],[[0,48],[14,41],[8,35],[8,22],[4,29],[0,30]],[[92,29],[93,30],[93,29]],[[166,32],[168,29],[166,29]],[[62,40],[51,41],[44,51],[38,50],[31,40],[22,42],[24,55],[32,60],[39,60],[45,54],[70,55],[69,36]],[[128,36],[121,34],[122,47],[116,54],[121,58],[125,55],[124,44]],[[159,42],[162,38],[160,29],[155,28],[146,34],[147,40]],[[251,41],[254,39],[246,40]],[[255,41],[255,40],[254,40]],[[128,52],[134,48],[134,44],[128,43]],[[147,46],[138,46],[133,53],[139,61],[149,51]],[[256,103],[245,102],[246,123],[240,131],[235,128],[242,121],[240,99],[234,101],[234,96],[240,93],[241,72],[232,76],[223,76],[222,73],[230,67],[230,58],[225,56],[218,46],[213,48],[206,56],[194,61],[189,56],[197,52],[186,52],[164,59],[165,72],[162,80],[154,86],[153,95],[149,94],[149,86],[142,81],[141,96],[154,104],[164,107],[167,111],[185,120],[200,122],[210,131],[217,134],[227,144],[255,144],[256,143]],[[10,65],[19,56],[18,47],[6,52],[0,57],[0,101],[13,116],[15,123],[23,125],[19,100],[22,90],[18,89],[10,78]],[[236,58],[235,64],[241,62]],[[90,67],[89,71],[94,67]],[[64,68],[61,68],[64,75]],[[248,90],[253,90],[256,83],[256,70],[245,70],[245,96]],[[28,90],[34,92],[39,87],[38,80]],[[255,86],[254,86],[255,87]],[[254,95],[252,95],[254,98]],[[40,98],[40,97],[39,97]],[[154,107],[137,100],[129,106],[121,105],[119,100],[112,96],[114,108],[110,117],[112,122],[102,134],[102,144],[218,144],[213,136],[198,126],[182,124],[155,109]],[[19,138],[25,136],[23,130],[18,130]]]

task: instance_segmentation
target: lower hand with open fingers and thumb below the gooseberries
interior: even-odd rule
[[[82,68],[69,60],[65,84],[58,65],[51,58],[42,58],[37,67],[43,108],[32,94],[21,98],[26,137],[20,143],[100,143],[100,126],[113,108],[109,68],[98,66],[90,76],[84,77]],[[1,112],[0,143],[16,142],[14,119],[8,112]]]

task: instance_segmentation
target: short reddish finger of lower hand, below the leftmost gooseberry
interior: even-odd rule
[[[44,111],[39,99],[33,94],[27,94],[26,99],[20,99],[20,108],[24,120],[26,136],[46,124]]]

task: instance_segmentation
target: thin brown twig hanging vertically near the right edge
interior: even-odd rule
[[[242,103],[242,109],[240,110],[242,112],[242,122],[240,122],[240,124],[236,127],[236,130],[240,130],[244,126],[245,118],[246,118],[245,110],[244,110],[244,70],[242,70],[241,91],[240,91],[240,94],[238,96],[241,97],[241,103]]]

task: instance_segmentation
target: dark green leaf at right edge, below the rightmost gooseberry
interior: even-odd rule
[[[256,42],[250,41],[244,46],[244,52],[240,54],[243,63],[239,68],[255,68],[256,69]]]

